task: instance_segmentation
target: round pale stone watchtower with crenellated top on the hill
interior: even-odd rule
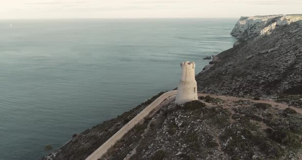
[[[197,82],[195,80],[195,63],[183,62],[181,66],[181,78],[176,95],[176,104],[198,100]]]

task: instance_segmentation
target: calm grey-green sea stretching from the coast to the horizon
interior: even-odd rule
[[[46,145],[176,88],[180,62],[198,73],[202,58],[232,47],[236,21],[0,21],[0,159],[39,159]]]

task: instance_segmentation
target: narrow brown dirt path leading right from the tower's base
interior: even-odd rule
[[[248,101],[251,101],[251,102],[254,102],[254,103],[267,103],[267,104],[270,104],[272,106],[276,106],[278,108],[281,108],[281,109],[286,109],[288,108],[288,105],[287,104],[283,104],[283,103],[277,103],[277,102],[274,102],[272,99],[261,99],[261,100],[254,100],[252,98],[239,98],[239,97],[233,97],[233,96],[225,96],[225,95],[212,95],[212,94],[204,94],[204,93],[198,93],[198,96],[211,96],[211,97],[214,97],[214,98],[220,98],[224,101],[238,101],[240,99],[243,99],[243,100],[248,100]],[[296,108],[296,107],[293,107],[293,106],[290,106],[291,109],[295,110],[296,112],[302,114],[302,109],[300,108]]]

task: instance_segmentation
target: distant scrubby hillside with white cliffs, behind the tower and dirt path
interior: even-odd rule
[[[291,17],[291,18],[290,18]],[[227,95],[302,94],[302,15],[242,17],[234,47],[196,77],[199,91]],[[269,27],[268,26],[274,26]]]

